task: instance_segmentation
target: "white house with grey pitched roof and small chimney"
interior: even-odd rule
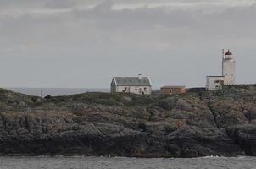
[[[110,89],[111,93],[151,95],[152,85],[148,77],[114,77]]]

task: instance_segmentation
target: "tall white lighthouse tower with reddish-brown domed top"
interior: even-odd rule
[[[236,84],[236,61],[230,50],[223,51],[222,76],[224,76],[224,85]]]

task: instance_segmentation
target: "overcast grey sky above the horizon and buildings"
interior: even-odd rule
[[[0,86],[204,86],[221,49],[256,83],[256,0],[0,0]]]

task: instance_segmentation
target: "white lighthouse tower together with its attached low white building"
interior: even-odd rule
[[[222,57],[222,76],[207,76],[206,90],[220,90],[223,85],[236,84],[236,61],[230,50]]]

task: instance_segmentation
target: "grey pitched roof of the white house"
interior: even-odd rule
[[[151,86],[148,77],[114,77],[114,81],[120,86]]]

